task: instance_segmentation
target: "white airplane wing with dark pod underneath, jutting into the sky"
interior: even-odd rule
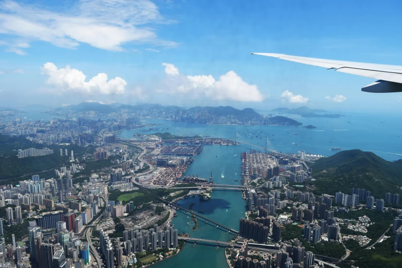
[[[361,91],[373,93],[402,92],[402,66],[324,60],[275,53],[252,54],[269,56],[285,61],[314,65],[318,67],[324,67],[329,70],[334,69],[338,72],[346,72],[378,79],[378,81],[361,88]]]

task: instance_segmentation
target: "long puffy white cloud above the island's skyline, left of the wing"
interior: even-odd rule
[[[234,71],[219,76],[179,75],[179,69],[170,63],[162,63],[168,76],[167,87],[171,93],[186,93],[188,96],[204,96],[213,100],[260,102],[265,99],[256,85],[250,85]]]

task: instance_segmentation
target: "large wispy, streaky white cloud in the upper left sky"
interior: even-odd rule
[[[127,43],[177,45],[159,40],[155,29],[144,26],[173,22],[165,20],[149,0],[79,0],[77,5],[65,10],[53,12],[11,0],[0,3],[0,34],[26,40],[22,46],[10,45],[14,49],[8,51],[22,54],[21,48],[29,47],[28,42],[34,40],[65,48],[86,43],[112,51],[123,51],[122,46]]]

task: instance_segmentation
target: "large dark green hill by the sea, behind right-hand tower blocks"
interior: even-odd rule
[[[370,190],[375,198],[385,198],[388,192],[402,194],[402,160],[389,162],[373,152],[345,150],[311,167],[316,194],[349,194],[352,187]]]

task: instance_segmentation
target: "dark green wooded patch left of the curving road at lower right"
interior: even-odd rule
[[[302,246],[305,247],[305,251],[311,251],[314,254],[328,256],[331,258],[340,259],[346,251],[341,244],[336,244],[332,242],[321,242],[321,243],[311,243],[305,241],[303,238],[303,229],[297,225],[286,224],[282,228],[282,241],[288,241],[293,238],[298,238]]]

